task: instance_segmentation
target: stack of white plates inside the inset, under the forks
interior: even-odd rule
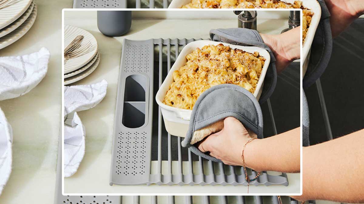
[[[100,62],[100,54],[98,52],[96,38],[84,29],[65,25],[64,47],[67,47],[78,35],[82,35],[84,37],[81,42],[81,46],[91,42],[92,47],[82,56],[64,60],[64,85],[74,83],[87,77],[94,72]]]

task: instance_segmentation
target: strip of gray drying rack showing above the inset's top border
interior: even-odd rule
[[[168,8],[170,0],[74,0],[73,8]]]

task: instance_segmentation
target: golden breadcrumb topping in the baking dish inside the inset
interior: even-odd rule
[[[223,44],[206,45],[186,56],[186,65],[173,72],[173,80],[163,103],[192,110],[203,91],[232,83],[254,93],[265,58]]]

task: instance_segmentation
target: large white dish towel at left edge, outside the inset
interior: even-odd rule
[[[0,101],[24,95],[37,86],[47,74],[49,58],[46,48],[23,56],[0,57]],[[0,109],[0,195],[11,174],[12,140],[11,126]]]

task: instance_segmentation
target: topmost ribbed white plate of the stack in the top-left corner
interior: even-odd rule
[[[0,29],[18,19],[32,3],[33,0],[14,0],[7,7],[0,9]]]

